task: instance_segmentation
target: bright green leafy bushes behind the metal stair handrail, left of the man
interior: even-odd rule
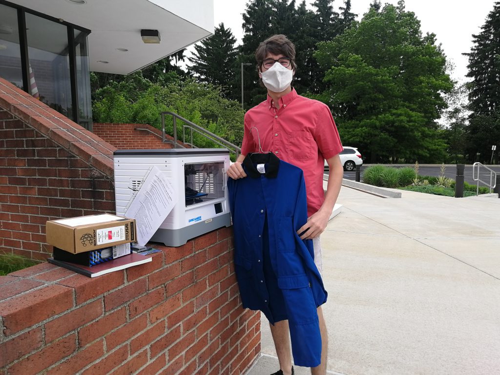
[[[241,144],[243,138],[243,110],[239,102],[221,95],[220,87],[199,83],[171,72],[163,85],[153,83],[140,71],[121,82],[95,92],[92,103],[96,122],[147,123],[161,129],[162,111],[172,111],[218,136]],[[177,134],[182,134],[181,122],[177,121]],[[165,130],[172,134],[173,123],[165,118]],[[200,147],[217,145],[194,134],[194,144]]]

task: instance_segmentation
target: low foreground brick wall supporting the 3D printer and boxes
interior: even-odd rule
[[[0,276],[0,373],[241,374],[260,352],[231,229],[95,278],[42,263]]]

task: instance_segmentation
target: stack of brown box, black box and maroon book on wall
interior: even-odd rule
[[[134,219],[97,214],[50,220],[46,237],[54,246],[50,263],[89,277],[151,261],[132,252],[137,237]]]

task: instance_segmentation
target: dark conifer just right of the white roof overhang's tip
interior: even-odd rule
[[[192,57],[187,57],[192,63],[188,71],[194,74],[199,82],[220,86],[224,95],[228,96],[230,83],[235,77],[235,43],[236,38],[231,29],[220,23],[212,36],[194,45],[196,52]]]

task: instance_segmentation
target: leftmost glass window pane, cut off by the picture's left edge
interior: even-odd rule
[[[0,76],[22,88],[17,10],[0,4]]]

